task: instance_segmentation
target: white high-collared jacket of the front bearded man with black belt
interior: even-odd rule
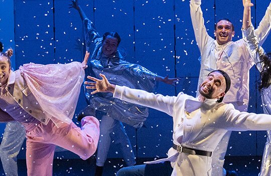
[[[147,106],[173,117],[173,142],[198,150],[213,151],[224,134],[230,131],[270,130],[271,116],[235,110],[232,104],[217,103],[215,99],[199,102],[198,98],[179,93],[163,96],[116,85],[114,98]],[[211,175],[211,157],[179,153],[171,148],[172,175]]]

